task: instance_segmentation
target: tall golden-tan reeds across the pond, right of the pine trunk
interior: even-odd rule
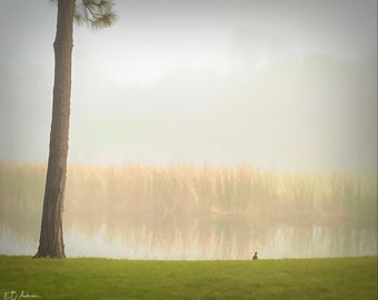
[[[351,174],[263,172],[249,166],[70,167],[67,209],[190,212],[335,222],[376,220],[377,181]]]

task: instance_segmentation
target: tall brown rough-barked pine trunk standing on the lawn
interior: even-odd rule
[[[58,0],[54,49],[54,82],[49,162],[41,233],[34,258],[64,258],[62,212],[70,123],[72,26],[74,0]]]

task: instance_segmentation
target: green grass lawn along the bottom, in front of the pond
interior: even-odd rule
[[[0,299],[377,299],[377,257],[258,261],[0,256]]]

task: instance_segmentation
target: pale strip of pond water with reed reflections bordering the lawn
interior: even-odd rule
[[[107,257],[123,259],[250,259],[260,258],[325,258],[377,254],[377,231],[366,229],[330,229],[319,226],[296,228],[280,226],[265,234],[240,239],[229,230],[212,232],[205,240],[196,231],[176,232],[170,239],[146,227],[127,232],[111,232],[102,226],[97,232],[86,233],[72,227],[64,236],[68,257]],[[265,238],[261,238],[265,236]],[[0,253],[33,254],[37,239],[21,238],[9,229],[0,232]]]

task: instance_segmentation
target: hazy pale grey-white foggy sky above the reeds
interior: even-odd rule
[[[115,2],[74,29],[70,163],[376,172],[377,1]],[[0,160],[44,162],[57,9],[0,3]]]

